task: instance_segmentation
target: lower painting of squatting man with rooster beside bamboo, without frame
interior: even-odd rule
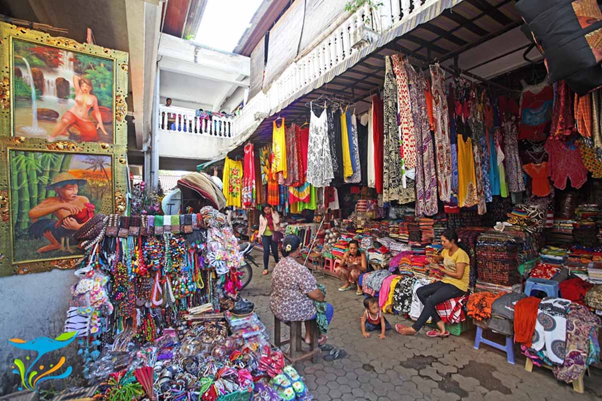
[[[105,155],[10,150],[13,262],[82,254],[73,233],[113,203],[111,165]]]

